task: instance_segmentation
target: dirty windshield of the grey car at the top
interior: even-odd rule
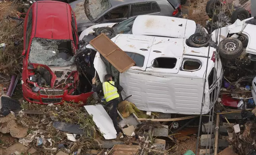
[[[109,0],[85,0],[85,14],[90,21],[93,21],[101,13],[111,8]]]

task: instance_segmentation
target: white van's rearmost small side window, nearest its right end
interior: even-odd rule
[[[200,60],[184,58],[182,62],[182,70],[196,71],[201,68],[201,64]]]

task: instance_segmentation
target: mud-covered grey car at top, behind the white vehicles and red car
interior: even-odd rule
[[[138,15],[181,17],[180,0],[76,0],[70,3],[78,32],[99,23],[118,23]]]

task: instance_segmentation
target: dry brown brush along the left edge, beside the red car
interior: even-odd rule
[[[5,51],[0,53],[0,73],[2,74],[14,74],[21,71],[22,67],[23,23],[7,18],[8,15],[17,17],[18,5],[20,4],[17,4],[17,0],[0,4],[2,8],[0,10],[0,43],[6,44]]]

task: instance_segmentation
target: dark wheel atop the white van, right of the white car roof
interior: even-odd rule
[[[207,47],[210,41],[211,38],[209,34],[206,34],[206,37],[204,37],[200,33],[195,33],[188,38],[188,44],[191,47]]]

